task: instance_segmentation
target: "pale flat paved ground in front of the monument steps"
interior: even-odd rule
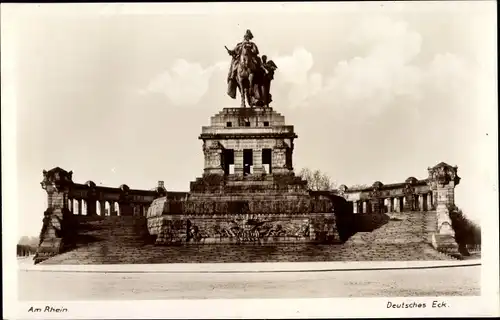
[[[155,300],[480,295],[480,266],[284,273],[19,271],[20,300]]]

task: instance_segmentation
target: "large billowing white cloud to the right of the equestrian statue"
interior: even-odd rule
[[[377,115],[391,107],[417,112],[423,101],[440,96],[447,101],[466,86],[469,66],[451,53],[417,61],[422,36],[405,21],[375,17],[347,33],[355,55],[314,73],[314,56],[304,48],[277,57],[277,82],[287,87],[288,106],[329,106]],[[447,97],[450,96],[450,97]],[[457,96],[456,93],[453,96]],[[425,107],[425,106],[424,106]]]

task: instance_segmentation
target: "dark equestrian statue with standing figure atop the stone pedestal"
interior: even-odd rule
[[[247,30],[243,41],[233,50],[226,50],[232,57],[228,74],[227,94],[236,99],[236,88],[240,91],[241,107],[269,107],[271,103],[271,81],[278,67],[267,56],[259,57],[259,48],[252,41],[253,34]]]

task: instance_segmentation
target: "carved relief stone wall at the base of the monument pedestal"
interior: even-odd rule
[[[335,215],[204,214],[148,218],[156,244],[338,243]]]

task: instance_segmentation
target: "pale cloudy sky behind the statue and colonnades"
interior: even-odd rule
[[[151,189],[164,180],[188,191],[203,173],[201,127],[239,106],[226,94],[224,46],[246,29],[278,66],[272,107],[295,126],[297,172],[371,185],[425,179],[444,161],[462,178],[456,204],[480,221],[485,197],[498,191],[495,9],[493,1],[2,6],[19,234],[40,231],[44,169],[72,170],[79,183]]]

